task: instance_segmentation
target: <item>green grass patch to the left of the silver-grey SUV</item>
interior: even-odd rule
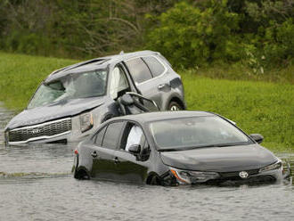
[[[0,101],[9,109],[22,110],[47,75],[75,62],[0,52]]]

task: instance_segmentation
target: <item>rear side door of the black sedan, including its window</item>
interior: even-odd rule
[[[91,157],[93,167],[91,176],[98,179],[114,180],[116,165],[114,164],[114,150],[117,149],[123,121],[114,121],[96,135]]]

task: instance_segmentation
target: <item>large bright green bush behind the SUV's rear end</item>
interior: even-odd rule
[[[159,27],[149,35],[149,47],[160,51],[177,67],[240,58],[235,34],[239,16],[228,12],[226,1],[210,1],[204,10],[185,2],[159,16]]]

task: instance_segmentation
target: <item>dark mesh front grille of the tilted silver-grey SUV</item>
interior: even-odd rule
[[[71,119],[59,119],[9,131],[9,142],[26,142],[32,138],[61,135],[71,130]]]

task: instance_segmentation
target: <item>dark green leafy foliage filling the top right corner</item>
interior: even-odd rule
[[[259,63],[267,67],[287,66],[294,54],[294,2],[246,1],[246,13],[253,29],[244,35]]]

